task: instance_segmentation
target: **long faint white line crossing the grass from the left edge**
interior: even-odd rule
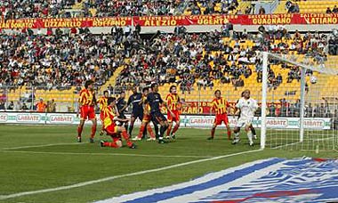
[[[80,153],[80,152],[52,152],[52,151],[32,151],[32,150],[0,150],[4,153],[24,153],[24,154],[51,154],[51,155],[97,155],[97,156],[127,156],[127,157],[149,157],[149,158],[213,158],[213,156],[194,156],[194,155],[157,155],[157,154],[125,154],[125,153]]]

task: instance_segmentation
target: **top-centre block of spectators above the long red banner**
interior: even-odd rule
[[[178,15],[189,13],[199,14],[228,14],[236,10],[237,0],[127,0],[109,1],[94,0],[84,1],[84,9],[96,9],[96,16],[154,16],[154,15]]]

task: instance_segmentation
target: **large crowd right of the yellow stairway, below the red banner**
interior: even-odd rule
[[[220,33],[214,30],[205,34],[161,34],[158,35],[146,50],[135,50],[131,64],[117,78],[117,84],[128,88],[127,84],[146,84],[151,81],[163,84],[176,81],[182,90],[191,90],[194,83],[201,87],[213,87],[213,81],[220,79],[221,83],[232,83],[243,86],[243,77],[252,75],[253,71],[262,71],[262,61],[257,55],[259,51],[272,53],[291,53],[291,60],[296,60],[294,53],[305,54],[304,62],[321,65],[327,60],[327,37],[325,34],[306,33],[294,34],[282,27],[271,27],[262,33],[253,35],[245,32],[233,32],[235,44],[223,42],[229,32]],[[254,41],[254,46],[245,45],[245,40]],[[277,43],[278,42],[278,43]],[[270,64],[280,64],[280,61],[270,61]],[[250,69],[249,67],[255,67]],[[287,82],[300,79],[300,69],[295,66],[281,64],[283,69],[289,69]],[[158,77],[157,77],[158,76]],[[307,76],[313,77],[312,72]],[[261,78],[259,78],[261,77]],[[176,78],[176,79],[175,79]],[[258,74],[257,82],[262,82],[262,74]],[[283,77],[269,69],[269,85],[277,88],[283,83]]]

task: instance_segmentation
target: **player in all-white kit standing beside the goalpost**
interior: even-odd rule
[[[240,117],[237,119],[237,125],[234,129],[235,138],[232,144],[240,142],[239,131],[242,126],[245,126],[249,145],[253,146],[253,133],[251,132],[250,126],[254,119],[254,112],[258,109],[258,104],[253,98],[250,98],[250,90],[245,90],[243,92],[243,97],[238,100],[236,108],[236,111],[240,110]]]

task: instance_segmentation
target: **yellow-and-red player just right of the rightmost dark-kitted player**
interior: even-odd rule
[[[180,114],[181,114],[180,113],[181,100],[179,95],[177,95],[177,87],[175,85],[170,86],[169,93],[165,97],[165,102],[168,107],[167,118],[169,123],[165,138],[169,139],[171,135],[172,138],[175,139],[175,133],[180,127]],[[173,122],[175,122],[174,127]]]

